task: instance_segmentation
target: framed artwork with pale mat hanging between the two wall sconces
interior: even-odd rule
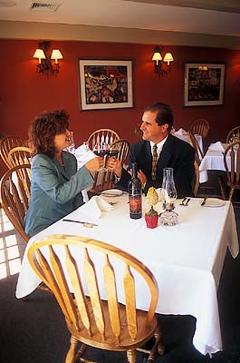
[[[82,110],[133,106],[132,61],[79,60]]]

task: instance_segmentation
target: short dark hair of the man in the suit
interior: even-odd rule
[[[163,125],[165,123],[168,123],[168,132],[171,131],[173,125],[173,113],[171,107],[168,104],[166,103],[149,104],[149,106],[147,106],[143,112],[145,113],[147,111],[151,113],[157,112],[157,116],[155,119],[156,123],[158,123],[158,125]]]

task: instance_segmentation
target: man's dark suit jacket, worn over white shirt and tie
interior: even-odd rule
[[[162,185],[163,168],[173,168],[173,177],[178,191],[178,197],[193,195],[192,182],[195,175],[194,168],[195,150],[188,143],[169,134],[163,145],[157,164],[156,181],[151,179],[152,153],[150,142],[140,141],[130,146],[129,167],[131,162],[137,162],[138,170],[146,175],[148,182],[144,191],[149,187],[160,188]],[[123,170],[118,185],[124,190],[128,190],[130,180],[129,172]]]

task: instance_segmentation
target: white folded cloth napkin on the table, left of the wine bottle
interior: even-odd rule
[[[101,211],[113,211],[113,209],[110,203],[95,195],[90,201],[83,204],[82,207],[73,211],[69,217],[76,221],[95,221],[101,218]]]

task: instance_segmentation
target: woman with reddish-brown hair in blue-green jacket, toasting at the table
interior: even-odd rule
[[[34,159],[31,167],[31,200],[25,231],[32,237],[80,207],[82,190],[93,183],[102,158],[94,158],[77,172],[77,160],[63,149],[70,145],[69,115],[64,110],[38,115],[29,129]]]

